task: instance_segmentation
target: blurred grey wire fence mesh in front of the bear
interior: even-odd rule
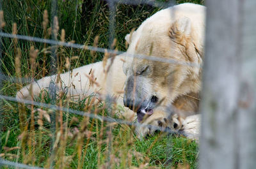
[[[128,56],[128,57],[136,57],[138,59],[147,59],[150,61],[156,61],[156,62],[166,62],[166,63],[170,63],[170,64],[180,64],[180,65],[184,65],[184,66],[193,66],[193,67],[200,67],[202,65],[197,64],[197,63],[191,63],[191,62],[180,62],[180,61],[176,61],[173,59],[164,59],[162,57],[156,57],[154,55],[140,55],[140,54],[128,54],[126,52],[121,52],[121,51],[117,51],[117,50],[113,50],[111,49],[111,43],[114,40],[114,31],[115,31],[115,5],[117,3],[122,3],[122,4],[132,4],[132,5],[138,5],[138,4],[148,4],[150,6],[157,6],[157,7],[167,7],[167,6],[172,6],[175,3],[173,3],[173,1],[170,1],[168,3],[163,3],[163,2],[159,2],[159,1],[118,1],[118,0],[110,0],[107,1],[108,5],[109,5],[109,10],[110,12],[110,16],[109,16],[109,48],[99,48],[99,47],[93,47],[93,46],[88,46],[88,45],[81,45],[81,44],[77,44],[77,43],[72,43],[72,42],[64,42],[64,41],[58,41],[56,39],[56,36],[54,36],[54,33],[52,33],[52,39],[44,39],[44,38],[36,38],[33,36],[25,36],[25,35],[21,35],[21,34],[10,34],[10,33],[3,33],[2,31],[0,32],[0,36],[2,38],[14,38],[17,40],[26,40],[26,41],[34,41],[34,42],[38,42],[38,43],[47,43],[49,45],[52,45],[52,47],[54,48],[53,50],[56,50],[57,47],[71,47],[71,48],[79,48],[79,49],[83,49],[83,50],[90,50],[90,51],[95,51],[95,52],[102,52],[102,53],[108,53],[108,54],[114,54],[114,55],[124,55],[124,56]],[[57,0],[52,0],[52,25],[56,26],[56,23],[54,22],[54,17],[56,17],[57,15]],[[1,23],[0,23],[1,24]],[[52,29],[52,31],[54,31]],[[55,54],[56,52],[52,52],[52,54]],[[51,68],[51,74],[56,73],[56,55],[52,55],[51,57],[52,59],[52,66],[54,68]],[[0,72],[1,75],[1,82],[3,83],[3,81],[9,81],[9,82],[33,82],[33,78],[26,78],[26,77],[8,77],[6,75],[3,75],[2,72]],[[111,82],[111,80],[109,81]],[[108,83],[109,83],[108,82]],[[111,84],[109,84],[111,85]],[[56,97],[53,96],[53,97]],[[115,119],[113,117],[104,117],[101,115],[97,115],[97,114],[93,114],[93,112],[83,112],[83,111],[78,111],[78,110],[73,110],[72,108],[66,108],[66,107],[59,107],[56,106],[55,104],[46,104],[46,103],[40,103],[40,102],[36,102],[36,101],[31,101],[28,99],[17,99],[14,98],[12,96],[4,96],[4,95],[0,95],[0,99],[6,100],[6,101],[13,101],[13,102],[18,102],[18,103],[24,103],[26,105],[35,105],[37,107],[44,107],[44,108],[48,108],[50,110],[58,110],[58,111],[63,111],[63,112],[68,112],[70,114],[76,114],[76,115],[81,115],[81,116],[86,116],[86,117],[90,117],[92,119],[98,119],[99,121],[106,121],[106,122],[116,122],[118,124],[126,124],[129,126],[135,126],[135,127],[141,127],[141,128],[152,128],[152,129],[159,129],[159,130],[163,130],[163,128],[160,128],[159,126],[151,126],[151,125],[145,125],[145,124],[140,124],[138,122],[131,122],[131,121],[125,121],[122,119]],[[164,129],[164,132],[169,133],[169,134],[177,134],[180,135],[179,132],[175,132],[172,131],[170,128],[166,128]],[[57,139],[57,138],[55,138]],[[52,140],[52,143],[54,143],[54,140]],[[54,145],[52,145],[54,146]],[[52,152],[54,153],[54,152]],[[0,166],[10,166],[10,167],[15,167],[15,168],[39,168],[36,166],[28,166],[22,163],[15,163],[12,161],[7,161],[4,160],[2,158],[0,158]],[[53,163],[51,163],[50,168],[53,168]]]

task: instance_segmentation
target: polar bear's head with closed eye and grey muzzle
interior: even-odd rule
[[[204,21],[182,12],[172,17],[172,10],[157,12],[125,37],[124,105],[138,113],[139,122],[157,105],[200,91]]]

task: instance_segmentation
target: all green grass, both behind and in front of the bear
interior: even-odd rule
[[[177,3],[184,2],[203,3],[200,0],[177,1]],[[65,40],[74,40],[76,43],[93,45],[95,36],[99,35],[97,46],[108,48],[108,7],[102,1],[93,1],[93,8],[88,10],[86,16],[84,16],[82,3],[83,1],[81,0],[58,1],[59,26],[60,29],[65,29]],[[12,33],[12,24],[15,22],[17,23],[18,34],[44,38],[45,34],[42,27],[44,10],[49,11],[50,16],[51,1],[3,1],[4,20],[6,22],[3,31]],[[143,20],[158,10],[160,9],[143,5],[134,7],[118,4],[116,6],[115,23],[116,48],[124,51],[126,49],[125,34],[129,33],[132,28],[140,26]],[[51,21],[50,18],[49,20]],[[60,37],[58,38],[60,39]],[[15,54],[13,40],[9,38],[3,38],[2,40],[1,68],[5,75],[17,76],[15,71],[15,56],[17,54]],[[50,46],[31,41],[18,41],[17,48],[20,48],[21,51],[20,73],[22,77],[31,77],[29,50],[32,45],[39,50],[36,57],[35,74],[35,78],[38,79],[50,73],[50,54],[44,54],[44,48],[49,48]],[[72,68],[102,59],[102,54],[100,53],[92,56],[90,51],[75,48],[58,48],[57,54],[60,58],[58,65],[63,71],[65,71],[65,68],[63,68],[65,57],[77,56],[78,59],[74,59],[71,62]],[[45,68],[43,66],[44,62]],[[8,96],[15,96],[17,86],[13,82],[3,82],[1,92]],[[103,103],[89,106],[90,99],[92,98],[82,98],[80,101],[73,103],[68,101],[67,98],[60,97],[56,99],[56,103],[62,103],[64,107],[74,108],[75,110],[91,112],[102,108],[99,114],[109,115]],[[38,98],[38,101],[40,100]],[[42,101],[45,103],[52,102],[48,96],[45,96]],[[39,112],[37,111],[35,112],[34,125],[34,118],[31,115],[30,108],[22,107],[10,101],[2,101],[1,105],[0,154],[4,159],[41,167],[49,166],[52,159],[52,164],[55,168],[61,168],[63,164],[67,168],[77,168],[78,166],[82,168],[100,168],[101,166],[103,168],[104,165],[107,165],[110,154],[112,168],[132,168],[142,167],[143,165],[148,166],[148,168],[168,168],[169,166],[181,168],[182,166],[186,167],[186,165],[196,168],[198,145],[186,138],[168,137],[164,134],[159,134],[138,140],[134,135],[133,129],[129,126],[113,124],[112,128],[109,128],[109,123],[107,122],[102,123],[79,115],[68,114],[67,112],[63,112],[63,115],[61,115],[61,112],[53,112],[45,108],[42,109],[47,114],[51,117],[61,117],[63,122],[56,121],[53,123],[43,118],[44,124],[40,125],[40,121],[38,121],[40,119]],[[56,126],[56,130],[52,129],[52,124]],[[61,131],[61,125],[65,128],[63,133],[67,133],[68,136],[61,135],[54,151],[52,151],[54,142],[58,140],[58,132]],[[100,132],[101,129],[102,131]],[[110,143],[108,142],[109,129],[111,129]],[[92,132],[91,136],[88,134],[90,132]],[[54,140],[52,140],[52,136],[54,136]],[[108,147],[109,145],[111,148]],[[10,150],[8,149],[10,147],[19,148]]]

